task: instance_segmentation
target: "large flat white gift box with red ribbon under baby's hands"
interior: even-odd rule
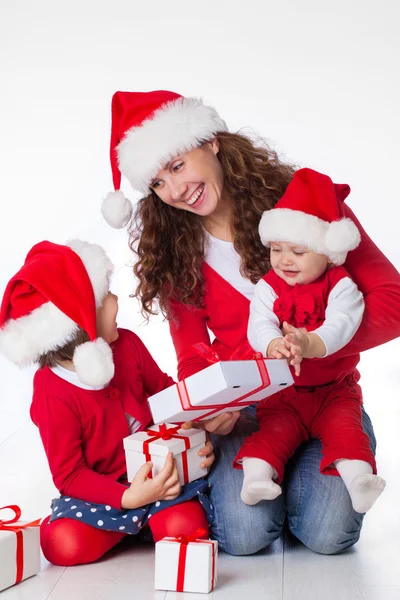
[[[241,410],[293,384],[286,360],[216,362],[149,398],[154,423],[201,421]]]

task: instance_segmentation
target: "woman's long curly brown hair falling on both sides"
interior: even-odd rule
[[[266,144],[255,145],[240,133],[216,135],[224,188],[232,200],[234,248],[241,256],[241,274],[253,283],[269,270],[269,252],[258,235],[262,213],[275,206],[291,181],[294,168],[281,162]],[[138,260],[133,267],[139,280],[139,298],[146,319],[165,316],[171,297],[201,306],[204,281],[205,230],[198,215],[177,210],[151,192],[139,201],[129,232],[129,245]]]

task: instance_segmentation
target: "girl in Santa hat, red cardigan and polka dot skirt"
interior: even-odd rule
[[[153,479],[146,463],[126,480],[122,440],[150,424],[147,397],[174,382],[135,334],[117,329],[112,270],[97,245],[41,242],[1,305],[0,351],[20,366],[39,363],[31,417],[61,494],[41,525],[41,545],[58,565],[97,560],[147,525],[155,541],[208,530],[205,510],[212,516],[207,482],[181,490],[172,454]],[[200,453],[210,466],[211,443]]]

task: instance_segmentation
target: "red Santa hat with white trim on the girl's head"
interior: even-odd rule
[[[19,366],[72,341],[81,327],[90,341],[76,347],[73,363],[86,385],[114,375],[110,346],[96,334],[96,310],[109,291],[113,265],[96,244],[40,242],[9,281],[0,308],[0,352]]]

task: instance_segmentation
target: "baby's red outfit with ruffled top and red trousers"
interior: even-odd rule
[[[344,277],[348,277],[345,269],[334,267],[306,285],[290,286],[273,271],[263,279],[278,296],[274,312],[280,325],[287,321],[313,331],[325,319],[330,291]],[[324,381],[318,380],[316,385],[316,374],[322,367]],[[375,458],[361,425],[358,379],[351,357],[348,365],[342,359],[340,366],[335,354],[304,360],[296,385],[259,403],[260,429],[243,444],[234,466],[240,468],[238,461],[244,458],[260,458],[272,465],[280,483],[285,464],[297,448],[310,438],[318,438],[323,452],[321,473],[339,475],[332,463],[342,458],[366,461],[376,473]]]

